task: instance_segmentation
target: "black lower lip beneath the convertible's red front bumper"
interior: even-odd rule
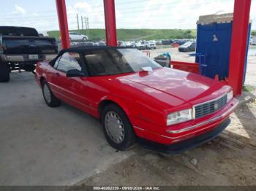
[[[147,139],[138,138],[139,144],[148,149],[155,149],[159,152],[167,152],[170,154],[178,154],[179,152],[183,152],[184,150],[190,149],[192,147],[197,147],[200,144],[204,144],[208,141],[211,141],[215,137],[225,130],[227,126],[230,124],[230,119],[228,118],[224,122],[222,122],[217,128],[207,131],[206,133],[201,134],[200,136],[195,136],[191,139],[187,139],[185,141],[180,141],[175,144],[159,144],[154,141],[149,141]]]

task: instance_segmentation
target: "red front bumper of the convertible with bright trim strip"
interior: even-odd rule
[[[134,120],[132,124],[136,135],[140,138],[151,140],[158,144],[176,144],[217,128],[229,118],[230,114],[236,109],[236,106],[238,106],[238,101],[236,98],[233,98],[232,101],[218,112],[167,128],[149,122],[142,122],[141,120]]]

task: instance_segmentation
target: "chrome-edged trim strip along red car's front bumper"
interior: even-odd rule
[[[236,99],[235,99],[235,100],[236,100]],[[204,122],[200,122],[200,123],[198,123],[197,125],[193,125],[193,126],[190,126],[190,127],[188,127],[188,128],[183,128],[183,129],[181,129],[181,130],[166,130],[166,132],[167,132],[167,133],[171,133],[171,134],[183,133],[184,131],[192,130],[192,129],[198,128],[198,127],[200,127],[200,126],[202,126],[202,125],[206,125],[206,124],[208,124],[208,123],[210,123],[210,122],[214,122],[214,121],[220,120],[220,119],[222,119],[223,117],[225,117],[228,113],[232,112],[233,109],[235,109],[236,106],[238,106],[238,104],[239,104],[239,101],[236,100],[236,103],[233,104],[233,106],[232,106],[230,109],[228,109],[226,112],[224,112],[223,114],[219,115],[218,117],[214,117],[214,118],[212,118],[212,119],[210,119],[210,120],[207,120],[207,121],[204,121]]]

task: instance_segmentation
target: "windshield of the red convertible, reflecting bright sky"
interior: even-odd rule
[[[91,50],[84,58],[91,76],[124,74],[141,71],[145,67],[162,67],[136,49]]]

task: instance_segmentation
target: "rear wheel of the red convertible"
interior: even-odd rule
[[[48,106],[57,107],[61,105],[61,101],[59,100],[59,98],[56,98],[55,95],[53,95],[48,83],[45,81],[42,82],[42,95],[45,99],[45,103]]]

